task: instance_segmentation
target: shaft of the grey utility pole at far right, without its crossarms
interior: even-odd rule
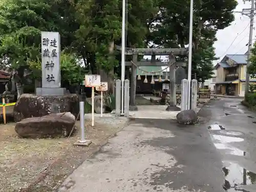
[[[247,66],[246,66],[246,76],[245,76],[245,94],[249,92],[250,75],[247,73],[247,69],[250,66],[250,53],[252,47],[252,32],[253,32],[253,19],[254,19],[254,0],[251,0],[251,13],[250,13],[250,32],[249,32],[249,42],[248,42],[248,54],[247,54]]]

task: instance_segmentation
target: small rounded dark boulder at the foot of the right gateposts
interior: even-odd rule
[[[195,124],[198,122],[198,117],[194,110],[181,111],[176,118],[180,124]]]

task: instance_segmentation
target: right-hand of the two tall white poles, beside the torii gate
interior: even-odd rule
[[[191,87],[191,70],[192,70],[192,37],[193,37],[193,0],[190,0],[190,18],[189,18],[189,47],[188,47],[188,72],[187,72],[187,80],[188,80],[188,99],[187,99],[187,108],[191,109],[190,106],[190,87]]]

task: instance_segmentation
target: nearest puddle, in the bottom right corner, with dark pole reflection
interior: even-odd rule
[[[244,153],[245,155],[245,153]],[[246,190],[245,185],[250,185],[256,183],[256,174],[249,172],[245,168],[241,167],[237,163],[224,162],[228,164],[222,168],[225,176],[223,189],[228,192],[244,191],[253,192]]]

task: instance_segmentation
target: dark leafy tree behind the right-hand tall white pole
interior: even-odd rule
[[[213,48],[216,33],[234,20],[232,10],[236,6],[235,0],[194,1],[192,74],[197,73],[200,81],[211,78],[212,61],[216,59]],[[148,42],[153,41],[155,47],[184,48],[188,45],[190,1],[160,1],[159,7],[158,14],[151,18]],[[187,57],[183,59],[187,61]]]

